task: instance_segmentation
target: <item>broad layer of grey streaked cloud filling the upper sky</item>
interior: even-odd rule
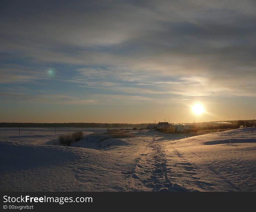
[[[10,56],[1,60],[0,83],[47,80],[42,66],[55,65],[59,80],[109,93],[256,96],[255,1],[25,1],[2,8],[0,46]],[[10,60],[23,67],[13,69]]]

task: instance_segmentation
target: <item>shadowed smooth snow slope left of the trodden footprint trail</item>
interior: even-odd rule
[[[123,191],[134,161],[86,148],[0,141],[1,191]],[[124,177],[125,176],[125,177]]]

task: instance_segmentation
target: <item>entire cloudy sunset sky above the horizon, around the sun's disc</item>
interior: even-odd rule
[[[254,0],[0,4],[0,122],[256,119]]]

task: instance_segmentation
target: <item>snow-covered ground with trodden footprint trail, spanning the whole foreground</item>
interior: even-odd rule
[[[256,191],[256,127],[187,138],[152,130],[89,135],[72,147],[49,144],[74,129],[5,129],[1,191]]]

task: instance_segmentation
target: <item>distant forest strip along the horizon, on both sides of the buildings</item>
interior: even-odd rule
[[[241,125],[246,127],[256,126],[256,120],[235,120],[235,121],[211,121],[200,123],[186,123],[198,130],[213,129],[236,129]],[[99,127],[99,128],[125,128],[125,127],[147,127],[148,123],[0,123],[0,127]]]

